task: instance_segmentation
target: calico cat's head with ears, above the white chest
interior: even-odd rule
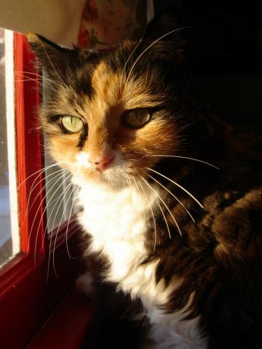
[[[112,50],[29,38],[47,73],[41,125],[57,163],[81,181],[122,187],[161,159],[152,155],[175,154],[188,105],[177,32],[165,13],[139,43]]]

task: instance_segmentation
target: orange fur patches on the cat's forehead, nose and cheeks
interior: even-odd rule
[[[126,83],[122,73],[114,73],[104,61],[94,69],[92,75],[92,98],[86,98],[82,105],[69,105],[66,91],[60,91],[57,103],[58,114],[79,114],[85,116],[88,124],[88,137],[83,151],[91,158],[103,156],[105,149],[117,149],[134,170],[152,166],[157,158],[144,157],[150,154],[173,154],[177,143],[177,130],[174,123],[163,115],[156,114],[143,128],[129,129],[122,126],[122,114],[126,110],[140,107],[163,105],[161,94],[150,91],[152,75],[142,75]],[[50,139],[52,156],[57,161],[73,163],[78,153],[80,135],[54,135]]]

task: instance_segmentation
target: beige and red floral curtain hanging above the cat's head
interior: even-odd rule
[[[0,0],[0,27],[66,47],[108,47],[140,38],[152,0]],[[151,15],[150,15],[151,16]]]

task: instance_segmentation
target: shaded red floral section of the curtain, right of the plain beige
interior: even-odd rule
[[[78,45],[103,48],[122,39],[137,39],[146,23],[146,0],[87,0]]]

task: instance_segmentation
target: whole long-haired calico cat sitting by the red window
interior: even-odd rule
[[[94,279],[139,300],[153,348],[260,348],[261,154],[197,103],[174,23],[103,51],[29,36],[41,125],[80,189]]]

